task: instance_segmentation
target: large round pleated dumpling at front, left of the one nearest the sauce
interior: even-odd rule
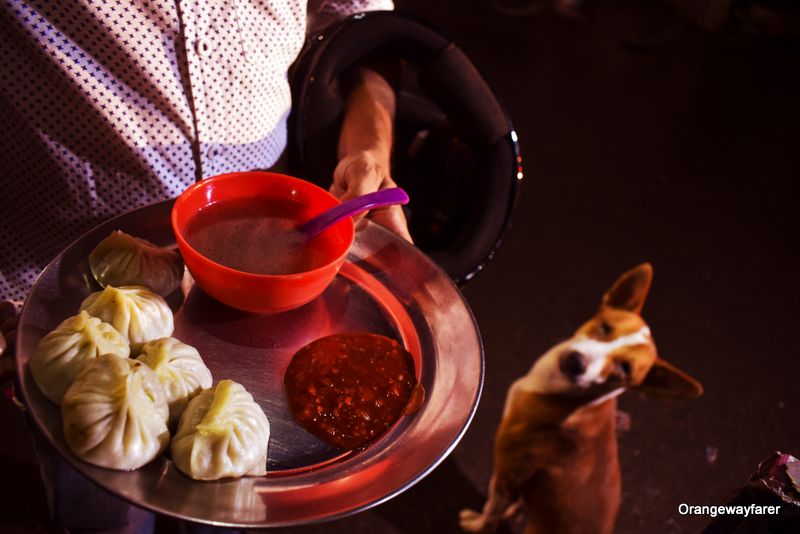
[[[61,403],[64,436],[76,456],[110,469],[137,469],[167,447],[167,396],[142,362],[107,354],[75,379]]]

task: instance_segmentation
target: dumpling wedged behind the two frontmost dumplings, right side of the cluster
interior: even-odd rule
[[[178,422],[189,399],[211,387],[211,371],[206,367],[200,353],[196,348],[174,337],[148,341],[136,359],[155,371],[164,386],[169,405],[170,428]]]

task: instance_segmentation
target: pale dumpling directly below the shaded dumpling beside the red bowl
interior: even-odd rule
[[[148,341],[170,336],[174,329],[166,301],[144,286],[108,286],[86,297],[81,310],[116,328],[134,355]]]

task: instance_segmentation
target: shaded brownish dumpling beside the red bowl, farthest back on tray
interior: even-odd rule
[[[177,251],[121,230],[111,232],[94,248],[89,267],[103,287],[145,286],[164,297],[175,291],[183,278],[183,259]]]

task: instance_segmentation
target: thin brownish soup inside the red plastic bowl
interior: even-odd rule
[[[206,258],[238,271],[293,274],[330,259],[319,238],[304,243],[296,230],[302,206],[267,197],[217,202],[186,225],[186,241]]]

